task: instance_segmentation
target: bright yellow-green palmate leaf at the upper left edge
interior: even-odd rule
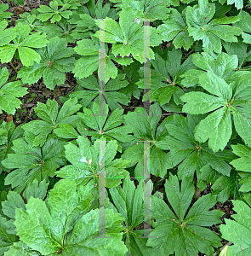
[[[39,63],[41,60],[40,55],[32,48],[45,47],[48,44],[48,40],[45,39],[46,35],[43,33],[33,33],[31,35],[31,28],[28,25],[22,25],[18,23],[14,27],[13,31],[10,31],[10,35],[6,34],[6,37],[0,41],[0,60],[2,63],[9,62],[12,60],[14,53],[18,50],[20,61],[26,67],[32,66],[34,61]],[[5,40],[4,40],[5,39]],[[9,42],[13,40],[13,44]]]

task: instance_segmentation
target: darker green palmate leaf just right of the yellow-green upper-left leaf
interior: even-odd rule
[[[67,48],[64,38],[54,37],[48,41],[47,47],[37,49],[41,61],[32,67],[21,67],[18,78],[26,84],[34,84],[43,76],[43,83],[50,90],[56,84],[65,84],[66,73],[72,71],[75,58],[74,49]]]

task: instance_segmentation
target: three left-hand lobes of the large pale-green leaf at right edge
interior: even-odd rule
[[[215,153],[219,149],[223,150],[231,138],[230,113],[232,109],[236,109],[229,108],[229,106],[231,106],[235,96],[231,99],[231,85],[227,84],[224,79],[220,79],[211,71],[199,75],[199,84],[205,90],[208,90],[209,93],[218,97],[209,96],[197,91],[186,93],[181,97],[181,100],[188,103],[185,104],[182,111],[198,114],[207,113],[218,108],[214,113],[208,114],[195,128],[195,138],[197,141],[205,143],[209,138],[208,146]],[[234,113],[238,113],[237,110]],[[242,131],[239,132],[242,133]]]

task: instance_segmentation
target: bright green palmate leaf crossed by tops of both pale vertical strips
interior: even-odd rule
[[[144,38],[147,35],[144,33],[143,20],[137,20],[143,18],[144,15],[133,14],[132,9],[123,9],[119,13],[119,22],[115,20],[106,19],[105,20],[105,31],[106,37],[105,42],[111,43],[112,54],[113,55],[132,55],[135,60],[143,63],[146,61],[144,52]],[[140,21],[140,22],[139,22]],[[100,20],[95,20],[96,24],[100,26]],[[149,27],[150,32],[150,46],[157,46],[162,43],[162,37],[158,34],[155,27]],[[95,37],[100,38],[100,31],[94,34]],[[150,48],[150,58],[154,59],[154,52]]]

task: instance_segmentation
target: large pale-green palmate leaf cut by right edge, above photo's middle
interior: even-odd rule
[[[228,77],[231,83],[227,84],[224,79],[208,71],[199,75],[199,84],[212,95],[191,91],[180,97],[187,102],[182,109],[185,113],[200,114],[215,110],[195,128],[196,140],[205,143],[209,139],[208,147],[214,153],[223,150],[231,138],[231,114],[237,133],[245,143],[251,145],[248,135],[251,132],[249,75],[247,72],[233,73]]]

